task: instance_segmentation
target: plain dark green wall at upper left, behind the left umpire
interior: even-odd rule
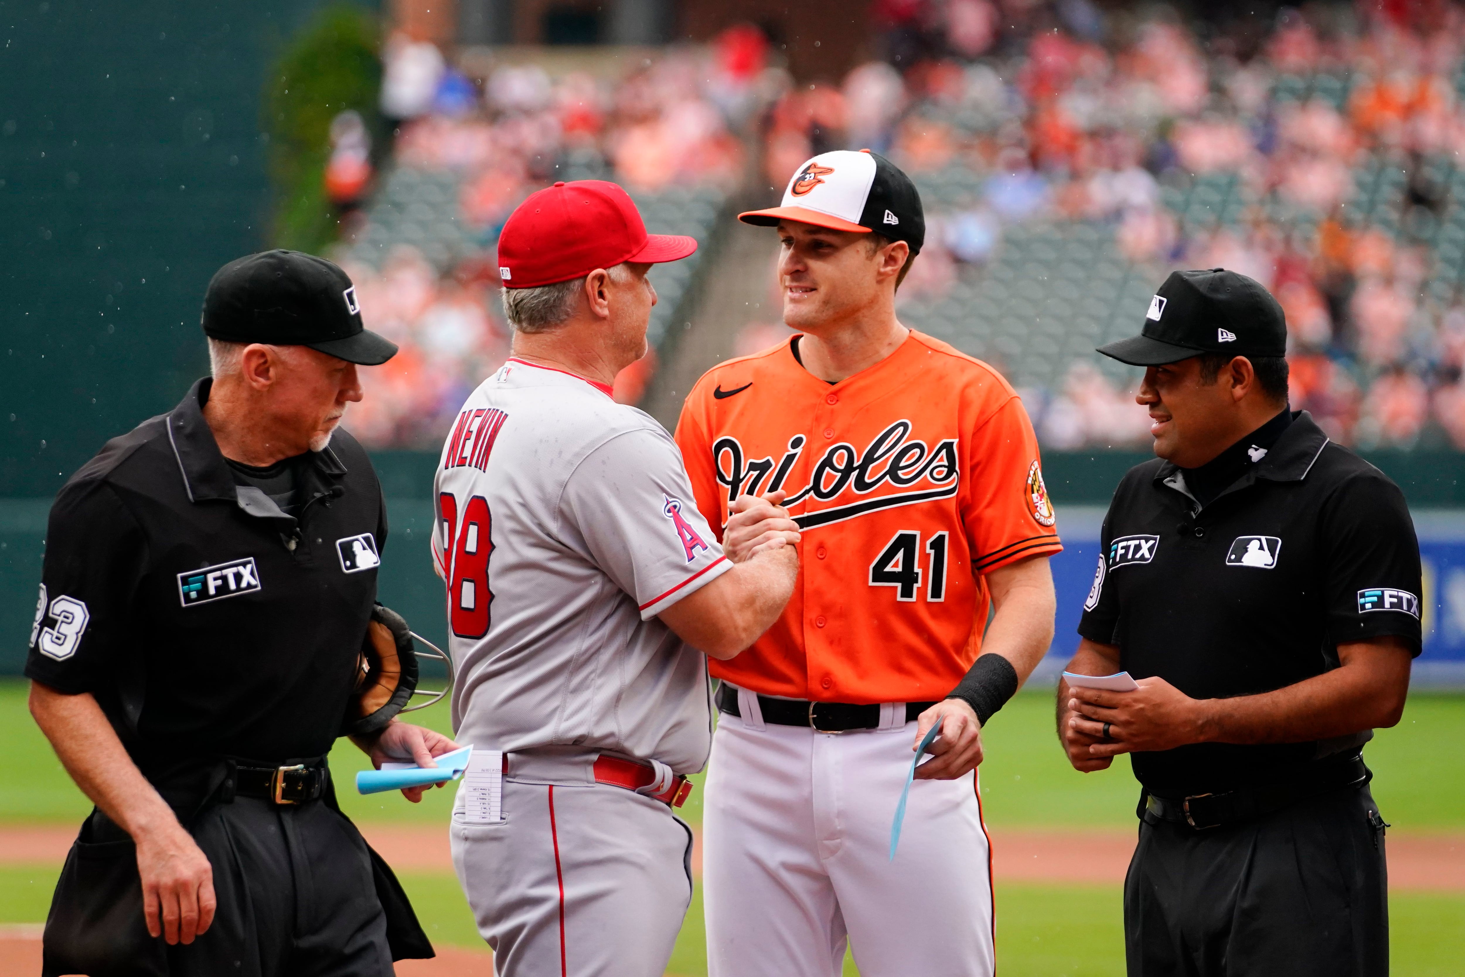
[[[0,497],[50,497],[205,371],[265,243],[259,97],[315,0],[0,0]]]

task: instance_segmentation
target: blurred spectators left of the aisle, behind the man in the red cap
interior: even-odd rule
[[[337,258],[357,283],[368,328],[401,347],[363,381],[371,390],[353,410],[357,437],[372,447],[440,442],[472,385],[502,363],[508,335],[494,252],[504,220],[529,193],[574,179],[615,180],[637,199],[689,186],[735,189],[744,142],[734,130],[766,103],[765,64],[766,41],[752,28],[728,31],[709,50],[668,50],[614,82],[586,72],[551,79],[535,64],[470,79],[431,42],[390,38],[381,107],[397,138],[381,180],[447,176],[454,199],[426,220],[457,224],[463,248],[444,258],[412,242],[381,253],[355,246],[381,229],[371,227],[369,204],[338,198],[346,231]],[[338,129],[352,132],[352,120]],[[350,173],[353,144],[341,145],[340,170]],[[617,395],[634,403],[653,363],[628,368]]]

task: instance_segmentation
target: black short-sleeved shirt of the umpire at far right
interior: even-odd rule
[[[1384,634],[1420,652],[1420,545],[1403,494],[1299,412],[1210,505],[1159,458],[1119,483],[1078,633],[1116,644],[1135,678],[1194,699],[1247,696],[1338,666],[1338,646]],[[1275,781],[1339,743],[1200,743],[1135,753],[1157,794]]]

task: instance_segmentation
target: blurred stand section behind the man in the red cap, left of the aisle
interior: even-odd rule
[[[388,57],[394,50],[403,45],[390,42]],[[393,100],[384,104],[404,111],[420,101],[420,111],[403,122],[375,192],[347,218],[334,252],[357,283],[368,325],[403,350],[363,381],[374,395],[353,413],[357,437],[374,448],[435,448],[472,385],[507,356],[495,246],[504,220],[533,190],[614,179],[652,233],[711,240],[735,189],[741,145],[686,83],[689,69],[694,81],[700,67],[678,53],[618,81],[502,66],[482,97],[444,69],[438,97],[415,100],[391,86],[388,63]],[[686,311],[705,256],[702,249],[652,271],[653,349]],[[653,369],[652,354],[623,372],[617,397],[639,400]]]

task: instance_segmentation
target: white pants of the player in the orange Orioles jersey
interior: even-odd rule
[[[974,775],[911,785],[916,724],[838,735],[722,713],[703,798],[709,977],[990,977],[989,844]]]

